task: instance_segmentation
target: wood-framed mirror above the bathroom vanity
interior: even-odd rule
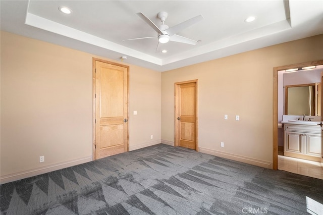
[[[285,115],[320,116],[320,83],[285,86]]]

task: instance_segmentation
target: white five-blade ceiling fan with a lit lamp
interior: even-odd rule
[[[140,37],[140,38],[133,38],[133,39],[126,39],[123,41],[129,41],[129,40],[136,40],[136,39],[147,39],[147,38],[158,38],[158,44],[156,48],[156,52],[159,52],[159,43],[167,43],[169,41],[174,42],[181,42],[191,45],[196,45],[197,41],[177,35],[176,33],[182,31],[185,28],[190,27],[191,25],[194,25],[195,23],[201,21],[204,19],[202,15],[198,15],[196,17],[193,17],[189,20],[186,20],[180,24],[177,24],[173,27],[168,27],[168,25],[165,24],[165,20],[168,16],[167,12],[159,12],[157,14],[158,19],[161,21],[161,25],[156,26],[148,17],[146,17],[143,13],[137,13],[137,15],[143,19],[150,27],[152,27],[156,32],[157,36],[150,36],[150,37]]]

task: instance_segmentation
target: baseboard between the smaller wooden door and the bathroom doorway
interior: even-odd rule
[[[251,164],[254,166],[258,166],[258,167],[273,169],[273,163],[266,162],[264,160],[254,159],[251,157],[244,157],[244,156],[240,156],[240,155],[236,155],[236,154],[226,153],[223,151],[217,151],[217,150],[203,148],[203,147],[199,147],[199,152],[202,152],[205,154],[211,154],[211,155],[218,156],[218,157],[228,158],[231,160],[236,160],[238,162]]]

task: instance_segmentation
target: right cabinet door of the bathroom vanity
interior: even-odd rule
[[[321,156],[321,136],[319,134],[305,133],[304,154],[311,156]]]

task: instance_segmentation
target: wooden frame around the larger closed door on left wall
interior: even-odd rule
[[[102,63],[106,63],[106,64],[112,64],[112,65],[116,65],[119,67],[124,67],[127,68],[127,94],[128,94],[128,98],[127,98],[127,119],[128,119],[128,123],[127,123],[127,129],[128,129],[128,136],[127,136],[127,151],[129,151],[129,66],[123,65],[123,64],[119,64],[119,63],[115,63],[115,62],[111,62],[111,61],[106,61],[106,60],[102,60],[102,59],[98,59],[98,58],[92,58],[92,160],[95,160],[95,62],[99,61]]]

